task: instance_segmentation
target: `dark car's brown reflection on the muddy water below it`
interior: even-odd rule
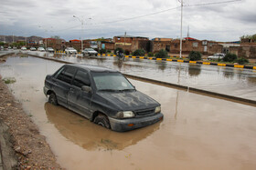
[[[95,125],[88,119],[76,115],[62,106],[45,104],[48,121],[55,125],[59,133],[76,145],[87,150],[123,150],[129,145],[135,145],[146,136],[159,129],[160,123],[126,133],[113,132]]]

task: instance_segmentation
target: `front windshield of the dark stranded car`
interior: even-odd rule
[[[92,73],[93,80],[100,91],[124,91],[134,90],[133,85],[118,72],[114,73]]]

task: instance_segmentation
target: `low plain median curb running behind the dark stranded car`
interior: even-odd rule
[[[51,60],[51,61],[55,61],[55,62],[59,62],[59,63],[64,63],[64,64],[76,64],[76,63],[61,61],[61,60],[58,60],[58,59],[55,59],[55,58],[48,58],[48,57],[44,57],[44,56],[38,56],[38,55],[31,55],[31,56],[35,56],[37,58]],[[210,92],[208,90],[202,90],[202,89],[198,89],[198,88],[194,88],[194,87],[189,87],[187,85],[177,85],[177,84],[172,84],[172,83],[168,83],[168,82],[162,82],[162,81],[159,81],[159,80],[145,78],[145,77],[141,77],[141,76],[137,76],[137,75],[128,75],[128,74],[123,74],[123,75],[125,75],[128,78],[132,78],[134,80],[149,82],[149,83],[152,83],[152,84],[155,84],[155,85],[162,85],[162,86],[172,87],[172,88],[184,90],[184,91],[195,93],[195,94],[208,95],[208,96],[211,96],[211,97],[220,98],[220,99],[224,99],[224,100],[229,100],[229,101],[236,102],[236,103],[242,103],[242,104],[245,104],[245,105],[256,106],[256,101],[251,100],[251,99],[241,98],[241,97],[232,96],[232,95],[219,94],[217,92]]]

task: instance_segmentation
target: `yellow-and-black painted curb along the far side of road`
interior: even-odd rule
[[[101,56],[116,56],[116,55],[102,54]],[[170,57],[176,57],[176,55],[169,55],[169,56]],[[256,70],[256,66],[250,66],[250,65],[232,65],[232,64],[212,63],[212,62],[207,62],[207,61],[205,61],[205,62],[203,62],[203,61],[190,61],[190,60],[183,60],[183,59],[155,58],[155,57],[133,56],[133,55],[125,55],[124,57],[125,58],[138,58],[138,59],[157,60],[157,61],[189,63],[189,64],[198,64],[198,65],[217,65],[217,66],[227,66],[227,67],[246,68],[246,69],[254,69],[254,70]],[[182,58],[186,58],[186,57],[182,56]]]

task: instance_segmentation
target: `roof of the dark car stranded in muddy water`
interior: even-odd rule
[[[113,70],[111,68],[106,68],[98,65],[67,64],[67,66],[82,68],[90,72],[118,72],[117,70]]]

